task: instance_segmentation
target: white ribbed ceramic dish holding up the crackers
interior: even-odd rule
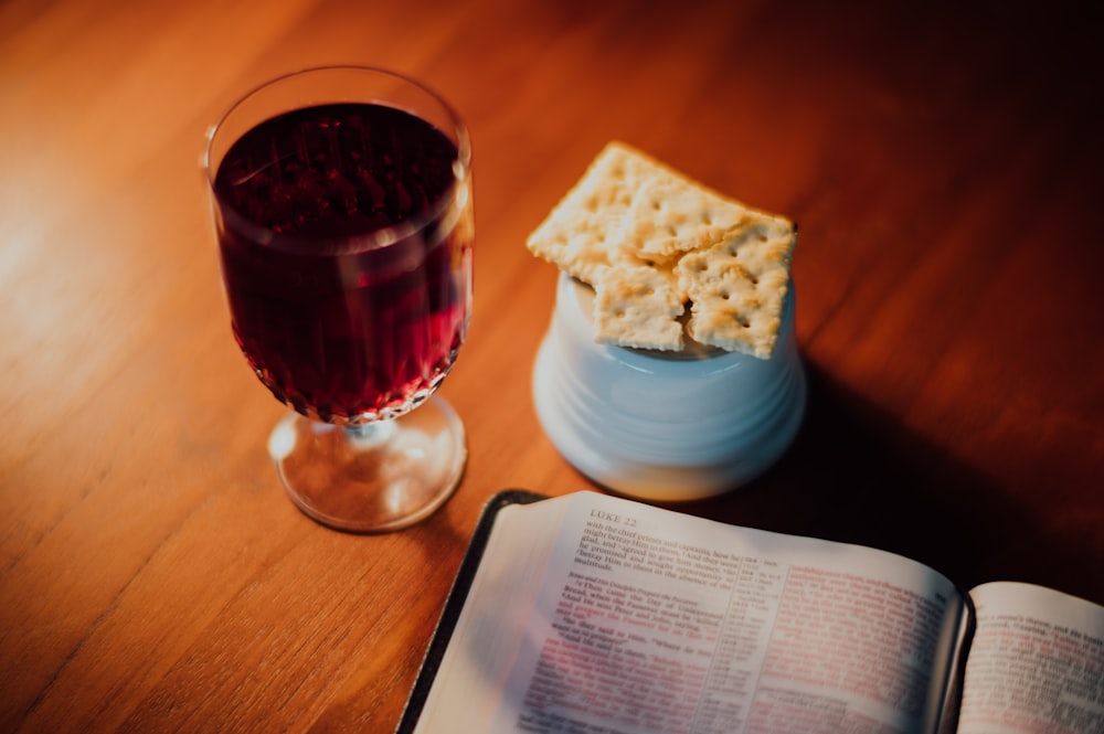
[[[560,276],[533,369],[538,418],[578,471],[622,494],[679,501],[736,489],[782,456],[806,402],[793,287],[769,360],[595,343],[593,299]]]

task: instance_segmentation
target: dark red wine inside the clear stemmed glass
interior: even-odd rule
[[[363,423],[444,377],[470,306],[471,228],[440,205],[457,156],[425,120],[372,104],[285,113],[231,147],[215,192],[244,226],[220,233],[223,278],[237,342],[279,400]]]

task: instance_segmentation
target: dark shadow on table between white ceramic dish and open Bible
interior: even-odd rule
[[[676,509],[892,551],[964,588],[1022,581],[1097,600],[1087,549],[1055,543],[1001,487],[806,366],[805,424],[778,464],[736,492]]]

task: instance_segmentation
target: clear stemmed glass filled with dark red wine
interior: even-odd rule
[[[470,158],[438,95],[361,66],[270,81],[210,130],[234,337],[295,411],[269,453],[299,509],[331,528],[407,526],[464,472],[464,426],[434,392],[471,312]]]

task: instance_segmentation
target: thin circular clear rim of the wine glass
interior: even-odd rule
[[[212,148],[214,147],[215,136],[217,135],[219,130],[222,129],[223,124],[230,118],[231,115],[234,114],[235,110],[237,110],[254,95],[293,77],[302,76],[305,74],[311,74],[315,72],[341,72],[341,71],[369,72],[372,74],[389,76],[395,81],[403,82],[405,84],[410,84],[413,87],[416,87],[422,93],[426,94],[436,104],[438,104],[442,110],[444,110],[445,115],[447,116],[449,124],[453,126],[453,129],[456,131],[456,162],[454,163],[454,172],[456,173],[456,178],[453,184],[444,192],[442,192],[440,196],[437,198],[433,206],[424,214],[420,214],[418,216],[400,222],[399,224],[381,227],[379,230],[374,230],[372,232],[368,232],[364,234],[330,240],[328,242],[331,245],[331,247],[326,248],[327,251],[330,252],[326,253],[326,252],[319,252],[317,249],[320,238],[318,237],[306,238],[291,234],[283,234],[279,232],[275,232],[274,230],[266,227],[263,224],[257,224],[255,221],[245,216],[244,214],[237,211],[237,208],[233,206],[232,204],[226,202],[222,196],[220,196],[219,191],[215,188],[215,179],[219,175],[219,170],[217,166],[212,166],[212,153],[213,153]],[[395,109],[402,109],[403,111],[407,111],[414,115],[415,117],[421,118],[421,115],[417,115],[416,113],[410,109],[404,109],[403,107],[390,105],[385,100],[379,100],[379,102],[381,102],[382,104],[388,104],[388,106],[392,106]],[[285,111],[294,111],[296,109],[301,109],[306,106],[315,104],[319,103],[308,103],[302,107],[290,106]],[[230,148],[227,147],[227,151],[229,150]],[[413,76],[410,76],[402,72],[396,72],[390,68],[385,68],[383,66],[371,66],[364,64],[321,64],[316,66],[305,66],[291,72],[280,74],[278,76],[274,76],[268,81],[263,82],[252,87],[244,94],[240,95],[237,99],[235,99],[233,104],[226,107],[226,109],[208,128],[206,145],[203,147],[203,156],[201,162],[203,170],[206,174],[205,178],[206,178],[208,191],[215,200],[217,200],[222,204],[225,204],[224,206],[220,206],[223,216],[229,215],[229,219],[232,220],[233,225],[236,230],[244,231],[251,237],[256,238],[257,242],[261,242],[263,244],[274,245],[277,247],[279,247],[280,244],[290,245],[290,247],[288,248],[294,249],[299,254],[311,254],[311,252],[315,252],[321,255],[321,254],[332,254],[332,251],[340,251],[342,253],[354,253],[354,252],[363,252],[367,249],[386,247],[388,245],[391,245],[395,242],[400,242],[411,236],[415,232],[423,230],[429,223],[440,220],[442,215],[445,213],[445,210],[447,210],[452,205],[452,203],[457,196],[463,195],[467,198],[468,195],[470,195],[468,193],[468,187],[466,184],[471,175],[471,139],[468,132],[468,128],[464,124],[464,120],[460,118],[459,114],[456,111],[456,108],[454,108],[453,105],[449,104],[449,102],[445,99],[444,96],[438,94],[434,88],[429,87],[424,82],[421,82],[414,78]],[[222,161],[219,162],[219,164],[221,163]],[[460,170],[457,171],[456,166],[459,166]],[[465,204],[466,202],[461,201],[460,203]],[[456,209],[461,210],[464,209],[464,206],[463,205],[457,206]],[[458,219],[458,216],[459,215],[457,214],[453,219]],[[444,223],[444,226],[442,226],[440,230],[443,232],[448,232],[452,230],[453,224],[455,224],[455,222]],[[309,245],[309,247],[307,247],[306,245]],[[283,248],[284,247],[280,247],[280,249]]]

